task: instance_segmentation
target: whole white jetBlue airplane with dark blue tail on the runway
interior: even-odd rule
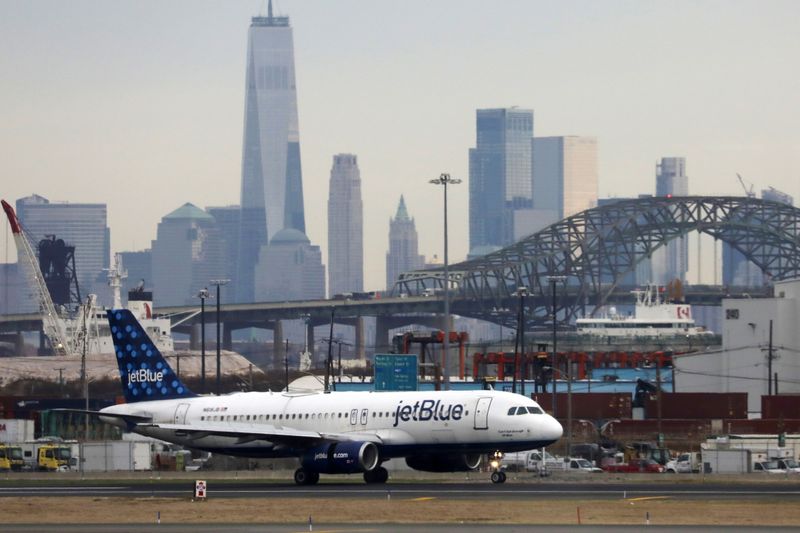
[[[125,430],[213,453],[297,457],[294,480],[363,473],[385,483],[381,463],[403,457],[411,468],[460,472],[481,456],[547,446],[561,425],[518,394],[437,392],[237,392],[198,396],[175,375],[130,311],[110,310],[127,403],[93,412]],[[495,472],[492,481],[505,476]]]

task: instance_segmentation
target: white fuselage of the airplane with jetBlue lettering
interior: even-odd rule
[[[509,414],[512,408],[514,414]],[[384,458],[448,451],[525,450],[555,442],[562,434],[561,425],[533,400],[486,390],[249,392],[122,404],[103,412],[152,417],[152,425],[134,428],[144,435],[253,457],[293,456],[308,446],[289,447],[265,437],[242,438],[243,433],[315,432],[323,438],[345,434],[353,441],[376,442]],[[116,418],[102,419],[124,425]],[[157,427],[159,424],[183,429]],[[186,426],[193,431],[187,432]],[[198,434],[197,430],[203,428],[216,434]],[[224,435],[226,429],[239,436]]]

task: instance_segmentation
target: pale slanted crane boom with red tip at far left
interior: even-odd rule
[[[11,224],[11,233],[14,235],[14,243],[17,245],[19,263],[22,266],[22,270],[25,271],[28,283],[36,291],[39,309],[42,313],[44,334],[50,339],[50,344],[56,355],[73,355],[73,343],[67,342],[64,322],[59,319],[56,312],[56,307],[50,297],[50,292],[47,290],[47,284],[44,281],[42,270],[39,268],[39,262],[36,259],[36,254],[33,252],[30,241],[19,223],[14,208],[5,200],[0,200],[0,203],[2,203],[3,211],[6,212],[8,222]]]

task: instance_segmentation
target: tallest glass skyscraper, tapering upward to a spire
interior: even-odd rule
[[[289,17],[253,17],[248,33],[236,294],[252,301],[261,248],[284,228],[305,233],[294,48]]]

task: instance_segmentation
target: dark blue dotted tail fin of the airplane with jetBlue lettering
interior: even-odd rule
[[[107,314],[125,401],[197,396],[181,383],[133,313],[127,309],[111,309]]]

